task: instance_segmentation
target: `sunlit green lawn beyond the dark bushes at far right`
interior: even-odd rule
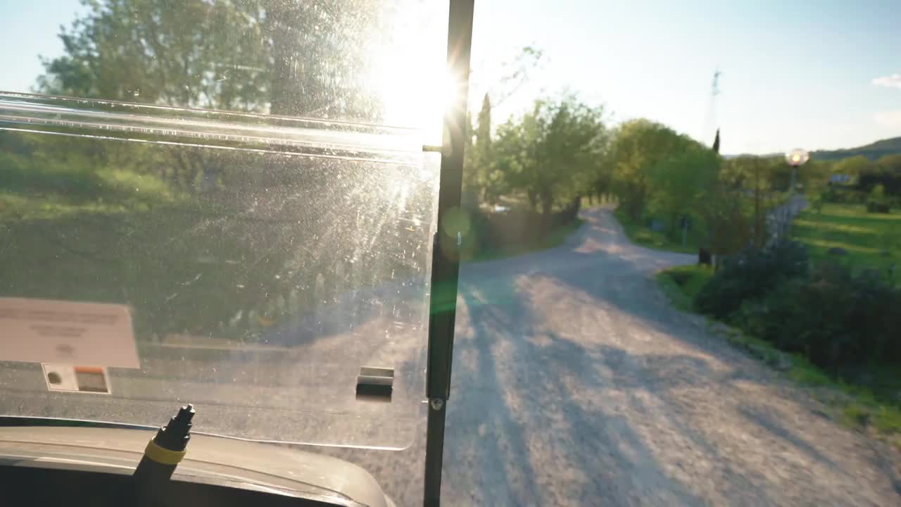
[[[864,205],[825,204],[821,213],[807,210],[795,219],[792,236],[809,248],[814,262],[842,259],[855,269],[887,272],[901,262],[901,211],[867,213]],[[844,255],[829,253],[842,248]],[[896,270],[896,281],[901,273]]]

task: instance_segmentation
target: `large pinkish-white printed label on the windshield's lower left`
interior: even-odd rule
[[[140,368],[125,305],[0,298],[0,361]]]

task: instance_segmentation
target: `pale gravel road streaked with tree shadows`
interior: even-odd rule
[[[671,309],[609,210],[567,244],[466,264],[447,505],[899,505],[895,451]],[[334,449],[398,505],[422,502],[424,435]]]

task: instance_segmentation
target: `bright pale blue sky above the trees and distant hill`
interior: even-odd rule
[[[0,0],[0,90],[27,91],[77,0]],[[476,0],[472,107],[526,45],[543,56],[496,121],[564,90],[724,153],[852,147],[901,135],[897,0]],[[719,69],[720,93],[712,95]]]

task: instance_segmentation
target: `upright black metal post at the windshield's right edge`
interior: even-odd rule
[[[425,433],[425,485],[423,504],[441,504],[441,460],[444,455],[444,417],[451,394],[453,329],[457,315],[457,281],[460,278],[460,235],[454,220],[460,219],[463,182],[463,146],[469,96],[469,53],[472,46],[472,12],[475,0],[451,0],[448,17],[447,66],[459,85],[457,96],[444,112],[441,149],[441,183],[438,194],[438,231],[432,244],[432,294],[429,312],[428,423]]]

